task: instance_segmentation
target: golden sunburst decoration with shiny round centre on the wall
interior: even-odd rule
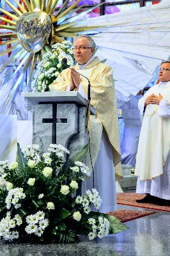
[[[78,6],[81,0],[75,1],[71,6],[68,6],[69,0],[66,0],[56,12],[58,1],[38,0],[38,4],[36,4],[36,0],[30,0],[30,2],[23,0],[24,6],[22,6],[15,0],[18,5],[18,8],[16,8],[10,1],[5,0],[15,15],[0,8],[1,12],[9,17],[9,19],[0,17],[0,20],[5,22],[4,25],[0,24],[0,28],[9,30],[8,33],[0,35],[0,39],[6,40],[1,45],[12,45],[6,51],[1,52],[0,57],[8,54],[8,52],[15,51],[5,65],[0,68],[0,71],[4,67],[11,65],[13,61],[19,61],[19,66],[13,76],[21,67],[22,72],[15,84],[15,90],[24,76],[24,72],[31,65],[28,79],[28,84],[30,84],[36,63],[42,60],[43,54],[50,51],[50,45],[63,42],[65,37],[72,38],[82,31],[98,28],[98,26],[76,28],[73,25],[79,22],[75,20],[91,12],[100,4],[87,10],[82,10],[81,13],[77,14],[77,11],[80,12],[81,8],[84,8],[84,6]]]

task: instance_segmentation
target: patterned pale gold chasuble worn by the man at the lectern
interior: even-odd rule
[[[79,65],[74,66],[77,72],[81,72]],[[91,84],[91,104],[97,108],[97,115],[90,117],[90,141],[93,156],[93,166],[100,150],[100,141],[102,137],[102,125],[107,132],[107,136],[112,145],[112,156],[116,173],[116,180],[121,179],[121,155],[120,140],[118,128],[118,110],[116,102],[116,93],[114,90],[114,81],[112,78],[112,68],[101,63],[98,57],[95,57],[84,71],[91,68],[89,81]],[[80,70],[80,71],[79,71]],[[54,83],[50,84],[50,91],[63,92],[70,85],[70,68],[61,72]],[[82,77],[82,88],[88,95],[88,81]],[[87,157],[88,158],[88,157]]]

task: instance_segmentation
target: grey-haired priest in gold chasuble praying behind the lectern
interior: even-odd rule
[[[90,36],[77,36],[73,45],[77,64],[72,70],[63,70],[56,81],[50,84],[50,91],[78,90],[87,99],[88,81],[75,70],[90,81],[91,104],[97,108],[97,115],[90,117],[90,148],[94,175],[92,173],[87,180],[87,189],[98,190],[103,200],[99,211],[106,213],[116,211],[115,177],[121,178],[120,141],[112,68],[93,56],[95,47]],[[86,165],[92,169],[89,154]]]

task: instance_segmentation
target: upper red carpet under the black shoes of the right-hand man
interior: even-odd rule
[[[130,205],[141,208],[148,208],[158,211],[170,212],[170,206],[156,205],[156,204],[138,204],[135,202],[137,199],[142,199],[146,196],[145,194],[136,193],[117,193],[117,204]]]

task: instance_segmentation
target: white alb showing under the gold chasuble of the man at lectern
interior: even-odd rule
[[[91,59],[93,60],[93,58]],[[88,61],[89,63],[90,61]],[[88,65],[86,63],[86,65]],[[84,65],[84,67],[86,67]],[[89,78],[92,68],[77,70],[77,72]],[[70,90],[70,86],[66,90]],[[79,85],[79,93],[87,99],[82,85]],[[94,166],[94,182],[93,173],[91,178],[87,180],[87,189],[97,189],[100,197],[102,198],[102,205],[99,212],[107,213],[109,211],[117,211],[116,204],[116,183],[115,183],[115,171],[112,158],[112,147],[109,142],[109,138],[103,129],[102,138],[100,141],[100,151],[98,152],[97,160]],[[92,209],[93,211],[97,211]]]

